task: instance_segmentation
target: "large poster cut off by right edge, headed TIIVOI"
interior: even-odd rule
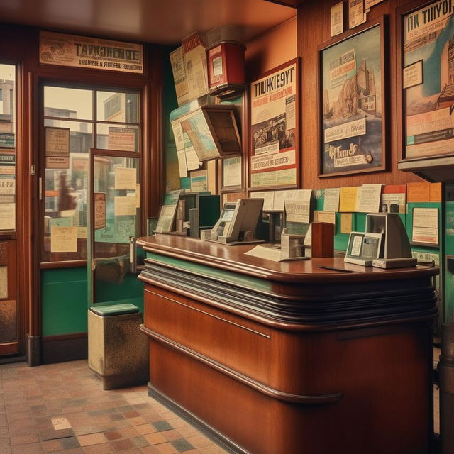
[[[404,16],[405,157],[454,151],[454,4],[436,1]],[[406,83],[412,74],[412,84]]]

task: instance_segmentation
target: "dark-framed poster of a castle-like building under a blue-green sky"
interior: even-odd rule
[[[319,177],[385,168],[384,18],[319,48]]]

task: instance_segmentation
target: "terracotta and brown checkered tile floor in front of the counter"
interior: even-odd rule
[[[0,365],[0,453],[222,454],[147,395],[102,391],[87,361]]]

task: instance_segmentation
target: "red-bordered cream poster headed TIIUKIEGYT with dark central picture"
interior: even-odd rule
[[[250,84],[250,188],[299,183],[299,60]]]

